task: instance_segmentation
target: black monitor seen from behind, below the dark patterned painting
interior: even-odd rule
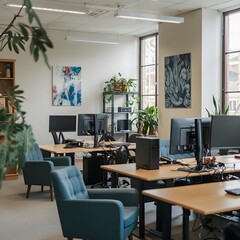
[[[201,119],[202,144],[204,151],[209,149],[211,118],[172,118],[170,133],[170,154],[195,152],[195,119]]]

